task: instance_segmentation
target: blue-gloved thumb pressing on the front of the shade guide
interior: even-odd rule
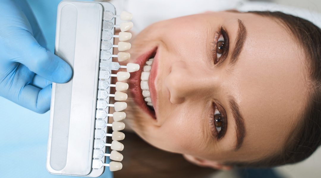
[[[23,47],[17,47],[19,57],[15,60],[27,66],[32,72],[56,83],[65,83],[71,78],[72,69],[69,64],[41,47],[30,34],[29,36],[26,34],[19,46]]]

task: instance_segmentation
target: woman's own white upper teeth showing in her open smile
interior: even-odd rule
[[[147,102],[147,105],[153,106],[152,104],[152,99],[151,99],[151,93],[149,92],[149,86],[148,86],[148,79],[149,79],[149,74],[152,69],[152,63],[153,63],[154,58],[149,59],[146,61],[146,64],[143,68],[143,72],[141,75],[141,88],[143,90],[143,97],[144,100]]]

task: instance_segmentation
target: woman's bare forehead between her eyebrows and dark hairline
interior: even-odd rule
[[[280,22],[250,13],[235,14],[231,19],[243,21],[247,41],[231,69],[233,85],[229,88],[245,119],[243,150],[266,155],[283,147],[305,106],[306,59]],[[234,47],[236,31],[231,32],[230,49]]]

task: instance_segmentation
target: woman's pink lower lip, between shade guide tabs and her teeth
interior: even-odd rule
[[[141,74],[143,71],[143,67],[148,59],[156,55],[157,47],[152,48],[151,50],[147,51],[146,53],[140,55],[135,63],[140,66],[140,70],[131,73],[131,77],[129,78],[129,92],[132,95],[135,103],[140,106],[146,113],[148,113],[152,118],[156,119],[155,111],[150,110],[146,102],[144,101],[142,89],[140,87],[141,82]],[[150,82],[149,82],[150,83]],[[151,89],[151,88],[150,88]],[[151,92],[152,93],[152,92]],[[156,97],[156,96],[155,96]],[[155,100],[152,100],[155,101]],[[156,109],[156,105],[154,106],[154,102],[152,102],[154,109]]]

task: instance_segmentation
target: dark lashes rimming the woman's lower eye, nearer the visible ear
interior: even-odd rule
[[[219,115],[221,116],[221,130],[218,131],[216,129],[215,126],[215,109],[217,109],[219,111]],[[213,112],[210,115],[210,120],[209,120],[209,124],[212,127],[212,133],[213,135],[217,138],[217,141],[221,140],[221,138],[224,136],[225,132],[226,132],[226,127],[227,127],[227,118],[225,117],[225,113],[222,114],[221,109],[219,109],[219,107],[217,107],[215,104],[213,104]],[[214,130],[213,130],[214,129]]]

